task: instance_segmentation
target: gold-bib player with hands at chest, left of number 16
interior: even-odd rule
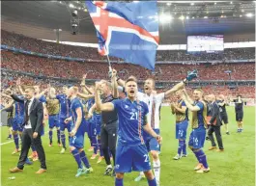
[[[186,157],[186,129],[188,126],[188,110],[185,106],[185,101],[181,98],[182,91],[176,92],[178,101],[176,104],[171,104],[172,114],[176,115],[176,139],[179,140],[178,154],[173,157],[174,160],[179,160],[181,157]],[[183,155],[182,155],[183,152]]]

